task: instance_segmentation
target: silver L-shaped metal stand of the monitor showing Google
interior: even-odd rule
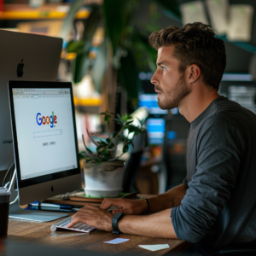
[[[25,219],[39,222],[52,221],[58,218],[67,217],[67,213],[61,212],[46,212],[46,211],[32,211],[24,210],[20,208],[19,201],[17,200],[18,191],[15,190],[15,179],[16,179],[16,169],[9,184],[10,195],[10,205],[9,205],[9,218]]]

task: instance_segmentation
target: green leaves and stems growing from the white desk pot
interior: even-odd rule
[[[90,137],[92,143],[96,145],[96,152],[93,153],[90,148],[87,147],[84,141],[83,143],[85,151],[79,154],[80,160],[85,159],[86,162],[90,162],[91,160],[95,161],[98,164],[101,164],[102,161],[113,161],[119,160],[119,158],[128,152],[130,145],[134,147],[130,135],[131,133],[133,136],[137,136],[139,133],[142,133],[144,130],[143,128],[143,120],[138,119],[139,126],[133,125],[134,119],[131,115],[119,115],[115,117],[114,113],[108,113],[108,111],[101,113],[104,116],[104,120],[106,123],[106,127],[108,130],[108,137],[104,140],[99,139],[95,140],[91,135],[90,132],[87,130],[87,134]],[[110,122],[113,121],[119,124],[119,131],[114,131],[113,134],[110,132]],[[124,136],[124,131],[127,130],[126,135]],[[119,155],[113,155],[116,151],[118,145],[122,143],[122,152]]]

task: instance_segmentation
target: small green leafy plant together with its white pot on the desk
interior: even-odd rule
[[[84,191],[87,196],[114,197],[122,192],[125,172],[125,161],[119,160],[119,158],[128,152],[130,145],[134,146],[131,141],[131,133],[137,136],[146,130],[143,128],[143,120],[138,119],[139,125],[133,125],[134,119],[129,114],[123,116],[117,114],[116,118],[114,113],[108,113],[108,111],[101,114],[104,115],[108,137],[104,140],[95,140],[87,130],[92,143],[96,145],[96,152],[92,152],[87,147],[84,135],[82,135],[85,151],[79,155],[80,159],[84,159]],[[119,131],[111,134],[110,121],[119,124]],[[125,136],[124,131],[127,131]],[[122,152],[115,155],[120,143],[123,144]]]

